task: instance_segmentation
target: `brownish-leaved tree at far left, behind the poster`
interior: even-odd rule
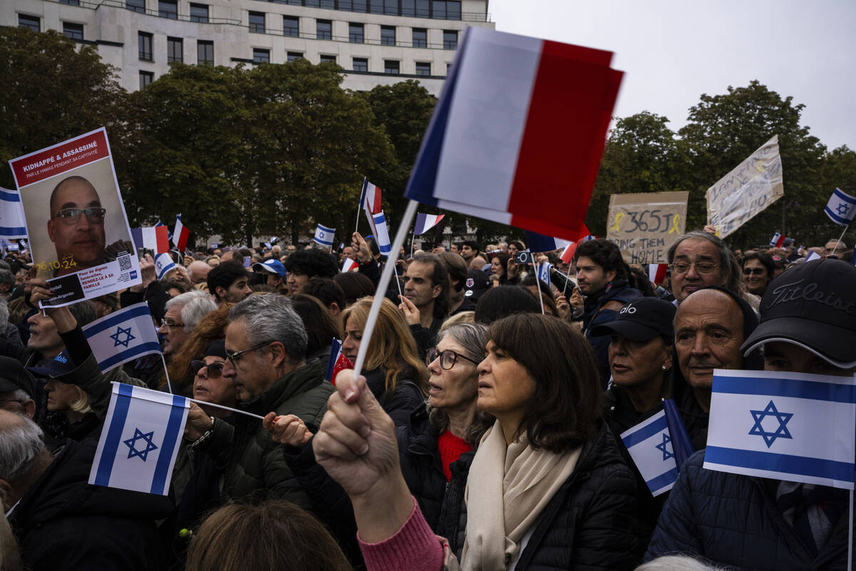
[[[0,77],[0,186],[15,187],[9,159],[100,127],[110,136],[116,126],[124,91],[91,45],[53,31],[2,28]]]

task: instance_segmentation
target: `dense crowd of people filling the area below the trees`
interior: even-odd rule
[[[603,239],[569,264],[522,252],[469,240],[390,262],[354,233],[338,253],[175,252],[161,279],[146,255],[142,283],[44,311],[26,249],[6,253],[0,569],[846,568],[846,491],[703,463],[715,369],[856,372],[852,250],[693,231],[662,283]],[[377,294],[363,371],[326,379]],[[81,328],[140,301],[165,368],[102,373]],[[197,401],[167,496],[87,483],[111,382]],[[620,434],[664,398],[694,453],[653,497]]]

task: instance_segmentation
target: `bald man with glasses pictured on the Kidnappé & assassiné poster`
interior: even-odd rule
[[[104,264],[105,213],[95,187],[82,176],[68,176],[54,187],[48,236],[56,247],[58,261],[74,261],[62,264],[56,276]]]

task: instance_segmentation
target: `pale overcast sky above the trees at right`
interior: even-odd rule
[[[615,52],[615,116],[649,110],[677,130],[702,93],[759,80],[805,104],[802,124],[856,149],[853,0],[490,0],[496,29]]]

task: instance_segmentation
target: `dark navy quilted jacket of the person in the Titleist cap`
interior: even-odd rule
[[[741,569],[847,568],[847,515],[812,557],[776,508],[775,480],[705,470],[703,464],[704,450],[684,464],[645,559],[680,552]]]

